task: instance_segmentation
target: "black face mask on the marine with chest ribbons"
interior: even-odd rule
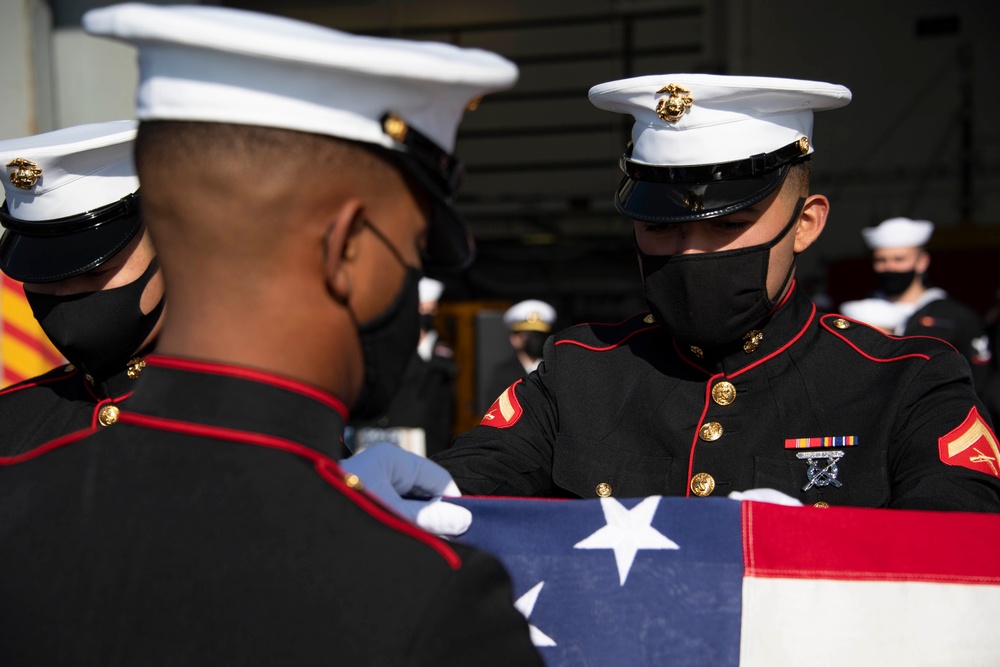
[[[690,255],[647,255],[642,261],[644,295],[663,330],[685,343],[719,347],[734,343],[759,327],[777,306],[767,293],[771,248],[799,219],[805,199],[799,198],[785,228],[767,243]],[[684,224],[684,223],[680,223]],[[791,280],[795,261],[778,296]]]

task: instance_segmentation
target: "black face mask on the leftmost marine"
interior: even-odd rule
[[[125,368],[160,319],[163,297],[148,314],[139,307],[158,266],[154,257],[141,276],[121,287],[65,296],[26,289],[24,296],[56,349],[103,380]]]

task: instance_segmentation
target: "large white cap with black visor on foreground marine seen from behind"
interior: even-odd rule
[[[471,236],[451,206],[462,114],[517,67],[450,44],[362,37],[237,9],[137,3],[93,9],[84,28],[139,49],[139,120],[237,123],[363,142],[434,197],[433,268],[464,268]]]

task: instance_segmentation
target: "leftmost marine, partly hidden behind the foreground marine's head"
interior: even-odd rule
[[[163,285],[139,209],[135,127],[0,142],[0,269],[26,284],[36,319],[70,361],[0,390],[0,456],[114,423],[153,348]]]

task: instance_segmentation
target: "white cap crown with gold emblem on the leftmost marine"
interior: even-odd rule
[[[138,190],[135,129],[135,121],[122,120],[0,141],[8,214],[31,222],[56,220]]]

